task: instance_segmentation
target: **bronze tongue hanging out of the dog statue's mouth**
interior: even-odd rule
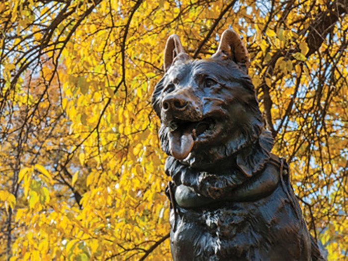
[[[193,147],[192,129],[174,130],[169,133],[169,150],[177,160],[183,160]]]

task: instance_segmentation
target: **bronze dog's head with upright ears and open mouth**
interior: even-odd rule
[[[226,30],[217,52],[201,60],[184,52],[177,35],[169,37],[165,75],[152,97],[167,154],[211,168],[258,140],[263,123],[248,65],[248,51],[234,30]]]

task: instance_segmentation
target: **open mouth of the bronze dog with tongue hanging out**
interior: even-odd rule
[[[173,120],[169,124],[169,149],[174,158],[185,159],[191,152],[194,142],[213,134],[215,120],[206,118],[201,121]]]

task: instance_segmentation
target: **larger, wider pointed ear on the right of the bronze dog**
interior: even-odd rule
[[[244,67],[248,73],[249,53],[247,47],[233,29],[227,29],[222,33],[219,47],[212,58],[232,59],[236,64]]]

